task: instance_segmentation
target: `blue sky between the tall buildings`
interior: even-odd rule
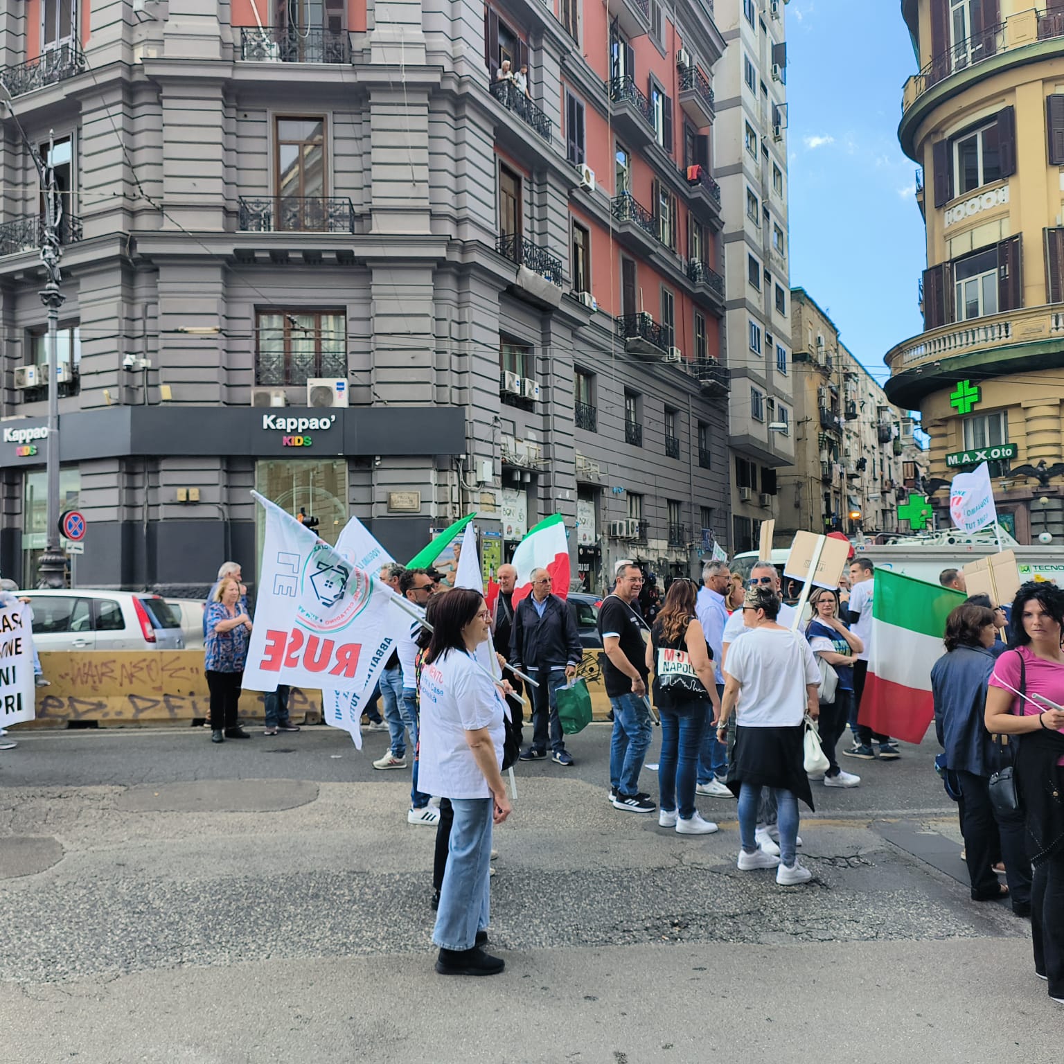
[[[791,0],[787,27],[791,284],[824,307],[877,380],[924,328],[924,220],[898,146],[915,72],[898,0]]]

